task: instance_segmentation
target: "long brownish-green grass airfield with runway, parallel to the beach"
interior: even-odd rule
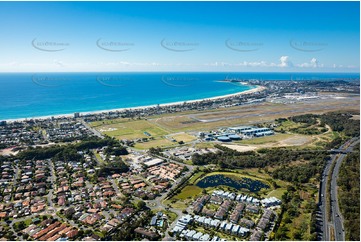
[[[347,95],[346,95],[347,96]],[[250,125],[255,123],[273,122],[276,118],[305,113],[324,113],[340,109],[359,109],[359,99],[322,99],[314,102],[275,104],[263,103],[231,108],[220,108],[204,112],[178,113],[152,118],[151,122],[168,130],[181,132],[191,130],[209,130],[233,125]],[[208,121],[208,122],[204,122]],[[292,124],[290,123],[291,127]]]

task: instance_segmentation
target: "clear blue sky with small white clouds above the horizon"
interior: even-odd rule
[[[359,72],[359,2],[0,2],[0,72]]]

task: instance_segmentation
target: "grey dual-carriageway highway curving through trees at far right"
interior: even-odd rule
[[[347,152],[352,152],[354,146],[359,143],[358,138],[352,138],[343,144],[339,150],[343,151],[340,154],[332,155],[331,161],[326,164],[326,167],[322,173],[322,180],[320,184],[320,196],[319,196],[319,208],[322,216],[322,240],[331,240],[330,231],[334,229],[335,240],[344,241],[345,233],[343,227],[343,218],[340,212],[338,197],[337,197],[337,178],[342,161],[345,159]],[[328,222],[327,218],[327,206],[326,206],[326,194],[327,194],[327,176],[330,173],[332,163],[335,162],[335,167],[331,171],[331,222]]]

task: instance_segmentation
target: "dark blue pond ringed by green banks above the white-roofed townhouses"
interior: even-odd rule
[[[252,180],[247,177],[239,179],[232,179],[225,175],[211,175],[203,178],[196,184],[200,188],[216,187],[216,186],[229,186],[236,189],[247,189],[251,192],[258,192],[262,188],[269,188],[267,184],[259,180]]]

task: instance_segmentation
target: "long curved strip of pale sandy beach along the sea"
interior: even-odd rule
[[[202,102],[202,101],[205,101],[205,100],[218,100],[218,99],[223,99],[223,98],[235,97],[235,96],[239,96],[239,95],[245,95],[245,94],[261,92],[261,91],[263,91],[265,89],[266,89],[266,87],[257,85],[257,86],[255,86],[255,88],[252,88],[252,89],[249,89],[249,90],[246,90],[246,91],[242,91],[242,92],[226,94],[226,95],[221,95],[221,96],[215,96],[215,97],[210,97],[210,98],[201,98],[201,99],[193,99],[193,100],[188,100],[188,101],[177,101],[177,102],[163,103],[163,104],[159,104],[159,106],[160,107],[167,107],[167,106],[180,105],[180,104],[183,104],[183,103],[197,103],[197,102]],[[3,119],[3,120],[0,120],[0,121],[22,122],[22,121],[31,120],[31,119],[45,120],[45,119],[50,119],[52,117],[54,117],[54,118],[69,118],[69,117],[74,117],[74,113],[79,113],[80,117],[81,117],[82,115],[87,115],[87,114],[101,114],[101,113],[117,112],[117,111],[119,112],[119,111],[125,111],[125,110],[141,110],[141,109],[147,109],[147,108],[154,108],[154,107],[157,107],[157,106],[158,106],[158,104],[152,104],[152,105],[136,106],[136,107],[129,107],[129,108],[115,108],[115,109],[86,111],[86,112],[73,112],[73,113],[66,113],[66,114],[44,115],[44,116],[28,117],[28,118]]]

